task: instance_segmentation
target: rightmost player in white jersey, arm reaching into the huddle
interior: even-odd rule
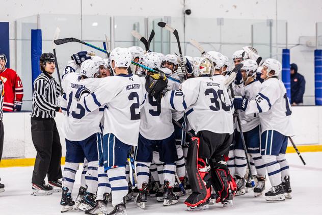
[[[281,63],[266,59],[261,78],[264,79],[255,99],[235,98],[235,109],[250,115],[258,113],[261,133],[261,155],[272,184],[265,193],[267,201],[283,201],[290,198],[289,167],[285,159],[287,137],[293,135],[290,123],[290,103],[284,84],[278,78],[282,71]],[[284,196],[285,193],[285,196]]]

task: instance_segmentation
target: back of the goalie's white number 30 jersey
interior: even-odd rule
[[[196,101],[186,109],[186,116],[196,132],[233,132],[232,105],[223,82],[207,76],[191,78],[182,84],[182,91],[185,99],[189,94],[197,94]]]

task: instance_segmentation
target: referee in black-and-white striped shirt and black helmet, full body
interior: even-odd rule
[[[61,188],[62,146],[56,122],[53,119],[60,111],[58,96],[60,86],[52,77],[55,72],[55,57],[52,53],[43,53],[40,57],[40,70],[34,82],[33,109],[31,114],[31,136],[37,151],[32,178],[32,195],[50,195],[53,187]],[[48,183],[45,183],[45,177]]]

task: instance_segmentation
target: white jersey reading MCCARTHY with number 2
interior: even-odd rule
[[[103,135],[113,133],[123,143],[136,146],[145,94],[145,77],[119,74],[99,78],[98,88],[80,101],[87,113],[108,106],[104,111]]]

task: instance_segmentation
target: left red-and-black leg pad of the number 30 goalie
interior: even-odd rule
[[[210,168],[204,159],[198,157],[199,144],[199,138],[192,138],[187,154],[187,173],[193,193],[184,204],[191,208],[205,204],[210,198]]]

